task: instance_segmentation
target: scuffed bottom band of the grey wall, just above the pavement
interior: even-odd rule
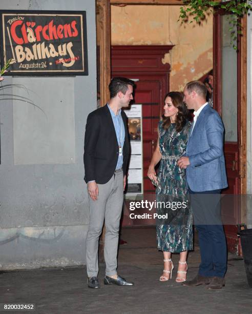
[[[83,265],[86,235],[82,225],[2,229],[0,269]]]

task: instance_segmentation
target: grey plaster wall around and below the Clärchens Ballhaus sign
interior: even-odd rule
[[[66,147],[75,158],[69,163],[62,162],[58,153],[50,163],[47,143],[44,147],[37,146],[31,140],[28,147],[23,147],[25,160],[15,164],[15,120],[37,111],[28,110],[25,103],[0,101],[0,269],[83,265],[89,221],[87,188],[83,181],[83,139],[87,116],[96,109],[95,0],[1,0],[0,9],[87,12],[88,76],[6,76],[3,82],[24,84],[31,101],[39,103],[48,115],[47,120],[40,114],[29,115],[34,119],[34,127],[29,125],[31,133],[48,130],[47,123],[52,121],[64,124],[74,119],[71,125],[75,145],[55,130],[48,136],[55,141],[55,147],[58,141],[69,141]],[[64,113],[66,106],[71,108],[71,116],[67,111]],[[24,133],[25,129],[24,124],[19,131]],[[47,162],[29,160],[31,150],[44,155]]]

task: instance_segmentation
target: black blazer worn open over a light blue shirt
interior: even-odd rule
[[[130,153],[127,115],[121,110],[125,128],[123,144],[123,174],[126,173]],[[108,106],[88,115],[84,144],[85,181],[107,183],[115,172],[119,147],[112,116]]]

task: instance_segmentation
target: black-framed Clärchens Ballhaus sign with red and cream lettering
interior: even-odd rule
[[[88,75],[86,11],[0,11],[7,75]]]

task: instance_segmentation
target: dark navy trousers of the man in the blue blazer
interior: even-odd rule
[[[221,190],[194,192],[189,188],[194,225],[198,231],[199,274],[224,277],[227,268],[226,238],[221,221]]]

